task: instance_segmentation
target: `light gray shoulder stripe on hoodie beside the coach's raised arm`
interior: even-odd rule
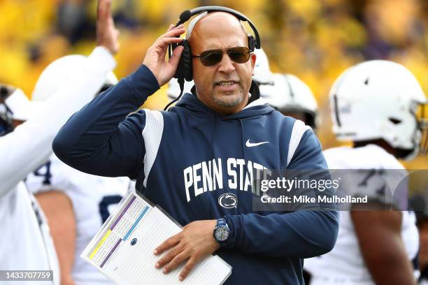
[[[147,185],[147,178],[152,169],[153,163],[159,150],[159,145],[164,132],[164,117],[159,111],[145,111],[145,126],[143,129],[143,140],[145,146],[144,155],[144,181],[143,186]]]

